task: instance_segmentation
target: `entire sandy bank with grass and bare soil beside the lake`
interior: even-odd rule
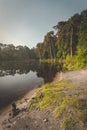
[[[4,130],[87,130],[87,69],[57,73],[52,83],[26,95],[19,108],[26,107],[3,122]]]

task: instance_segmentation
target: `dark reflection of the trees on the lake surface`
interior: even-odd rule
[[[45,82],[53,79],[55,73],[61,70],[61,66],[39,62],[0,62],[0,77],[15,74],[28,74],[30,71],[37,72],[38,77],[44,78]]]

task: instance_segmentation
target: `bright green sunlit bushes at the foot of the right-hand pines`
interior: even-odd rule
[[[68,70],[81,69],[87,66],[87,48],[78,47],[77,56],[67,56],[64,68]]]

